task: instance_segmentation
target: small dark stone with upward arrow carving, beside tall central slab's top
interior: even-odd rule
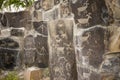
[[[45,21],[40,21],[40,22],[33,22],[34,29],[39,32],[40,34],[43,35],[48,35],[47,32],[47,22]]]

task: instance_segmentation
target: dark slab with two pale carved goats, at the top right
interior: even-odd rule
[[[77,0],[75,3],[71,2],[71,8],[75,22],[79,23],[80,27],[86,28],[104,23],[101,18],[101,13],[104,14],[102,8],[106,8],[104,0]]]

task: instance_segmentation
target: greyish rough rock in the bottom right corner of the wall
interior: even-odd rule
[[[104,61],[100,67],[102,79],[119,80],[120,79],[120,53],[113,52],[104,55]]]

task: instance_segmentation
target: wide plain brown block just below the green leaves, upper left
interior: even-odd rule
[[[14,28],[20,28],[20,27],[26,27],[28,24],[30,24],[31,15],[29,11],[20,11],[20,12],[6,12],[5,18],[6,26],[14,27]],[[30,26],[29,26],[30,27]]]

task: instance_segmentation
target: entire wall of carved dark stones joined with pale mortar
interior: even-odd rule
[[[119,80],[119,7],[119,0],[38,0],[30,11],[1,13],[0,68],[49,64],[51,80]]]

